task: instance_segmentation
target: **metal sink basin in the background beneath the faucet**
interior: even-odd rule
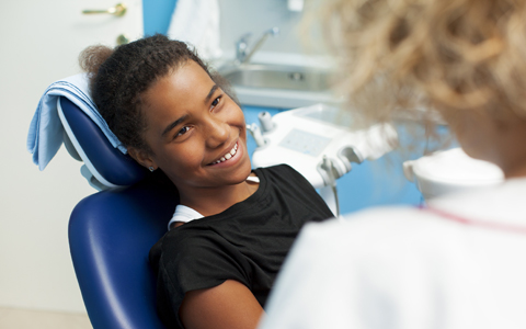
[[[242,64],[218,69],[233,87],[241,104],[294,109],[316,103],[335,103],[328,68]]]

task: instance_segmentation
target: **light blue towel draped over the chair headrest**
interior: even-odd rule
[[[80,73],[52,83],[38,102],[27,134],[27,150],[39,170],[46,168],[62,145],[64,128],[57,112],[58,97],[66,97],[77,104],[102,129],[113,147],[123,154],[127,152],[91,100],[88,76]]]

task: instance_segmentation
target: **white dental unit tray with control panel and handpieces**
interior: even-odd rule
[[[327,104],[285,111],[272,118],[261,113],[261,131],[252,156],[254,167],[287,163],[299,171],[339,216],[336,180],[350,172],[352,162],[375,160],[392,149],[397,133],[377,124],[352,129],[351,114]],[[255,138],[254,138],[255,139]]]

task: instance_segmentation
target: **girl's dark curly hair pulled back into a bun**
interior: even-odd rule
[[[79,56],[90,76],[91,97],[110,129],[126,146],[150,151],[142,135],[146,129],[141,94],[160,78],[186,61],[197,63],[236,102],[228,82],[211,72],[185,43],[157,34],[117,46],[91,46]]]

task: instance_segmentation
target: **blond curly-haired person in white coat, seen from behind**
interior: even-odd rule
[[[328,0],[318,13],[356,115],[433,109],[506,180],[308,225],[260,328],[526,328],[526,2]]]

